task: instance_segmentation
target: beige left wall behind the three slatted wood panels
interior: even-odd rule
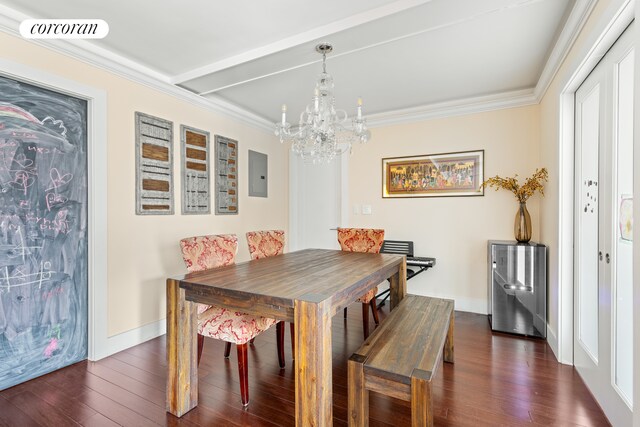
[[[164,280],[184,272],[180,238],[237,233],[242,261],[246,231],[287,228],[287,147],[271,134],[4,33],[0,46],[7,60],[107,92],[109,336],[165,317]],[[135,215],[135,111],[174,122],[175,215]],[[239,141],[239,215],[180,215],[180,124]],[[247,196],[249,149],[269,156],[268,199]]]

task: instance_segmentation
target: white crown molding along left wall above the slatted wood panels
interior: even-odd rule
[[[20,22],[25,19],[30,19],[30,17],[14,9],[0,5],[0,31],[22,39],[18,28]],[[174,86],[169,82],[169,78],[166,75],[141,66],[134,61],[116,55],[107,49],[95,46],[85,40],[34,39],[26,41],[112,72],[151,89],[174,96],[192,105],[238,120],[254,128],[269,133],[273,132],[273,123],[257,114],[244,110],[220,98],[203,98],[186,89]]]

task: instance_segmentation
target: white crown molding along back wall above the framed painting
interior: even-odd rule
[[[370,128],[418,122],[428,119],[463,116],[538,104],[533,89],[458,99],[420,107],[406,108],[367,116]]]

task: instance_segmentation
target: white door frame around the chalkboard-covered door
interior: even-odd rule
[[[87,101],[88,359],[109,355],[107,335],[107,94],[0,58],[0,75]]]

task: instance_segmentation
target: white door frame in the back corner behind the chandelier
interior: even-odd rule
[[[341,149],[346,149],[346,144],[339,144]],[[301,249],[300,242],[300,214],[298,206],[304,202],[306,195],[300,194],[300,180],[302,174],[300,171],[300,162],[297,155],[289,152],[289,250],[295,251]],[[340,224],[337,227],[349,226],[349,150],[337,156],[333,161],[340,162]],[[313,165],[307,165],[313,167]]]

